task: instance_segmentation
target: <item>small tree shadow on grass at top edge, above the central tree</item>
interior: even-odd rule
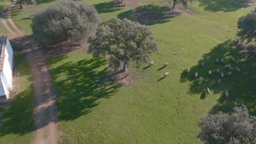
[[[117,2],[117,1],[99,3],[99,4],[95,4],[94,6],[99,14],[112,13],[114,11],[121,10],[122,7],[124,7],[124,5],[121,5],[120,2]]]

